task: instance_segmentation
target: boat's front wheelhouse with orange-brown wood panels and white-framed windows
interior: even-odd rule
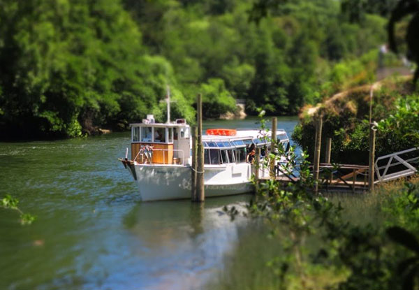
[[[190,157],[190,128],[184,119],[170,124],[147,115],[131,126],[131,160],[140,164],[186,164]]]

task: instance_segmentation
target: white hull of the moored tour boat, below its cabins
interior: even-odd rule
[[[142,201],[191,198],[191,167],[131,165]],[[250,164],[205,168],[205,197],[253,191]]]

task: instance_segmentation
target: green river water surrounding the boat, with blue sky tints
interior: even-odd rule
[[[278,119],[290,137],[295,124]],[[259,126],[250,118],[204,129]],[[215,277],[247,224],[222,208],[251,196],[142,203],[117,161],[129,146],[130,133],[0,143],[0,198],[11,194],[37,216],[21,226],[0,208],[0,289],[201,289]]]

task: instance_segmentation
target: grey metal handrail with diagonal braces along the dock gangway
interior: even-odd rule
[[[411,157],[409,159],[402,159],[400,155],[407,154],[411,152],[417,152],[416,157]],[[379,161],[383,161],[385,159],[388,159],[387,164],[384,166],[378,166]],[[394,163],[393,160],[396,160]],[[415,168],[412,164],[414,162],[419,161],[419,147],[413,147],[408,150],[403,150],[400,152],[395,152],[392,154],[384,155],[382,157],[378,157],[378,159],[375,162],[375,169],[376,169],[376,175],[378,180],[376,182],[383,182],[387,180],[393,180],[400,177],[406,177],[409,175],[413,175],[418,172],[418,169]],[[404,166],[404,170],[388,173],[388,170],[394,166]]]

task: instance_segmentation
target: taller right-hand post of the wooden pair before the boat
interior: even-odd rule
[[[196,201],[205,201],[204,188],[204,146],[203,146],[203,97],[198,94],[198,138],[197,138],[197,173],[196,173]]]

